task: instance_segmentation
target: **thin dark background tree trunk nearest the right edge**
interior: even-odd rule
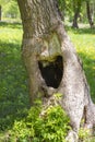
[[[86,11],[87,11],[87,19],[90,22],[90,26],[91,28],[94,27],[94,21],[92,20],[92,15],[91,15],[91,8],[90,8],[90,1],[86,1]]]

